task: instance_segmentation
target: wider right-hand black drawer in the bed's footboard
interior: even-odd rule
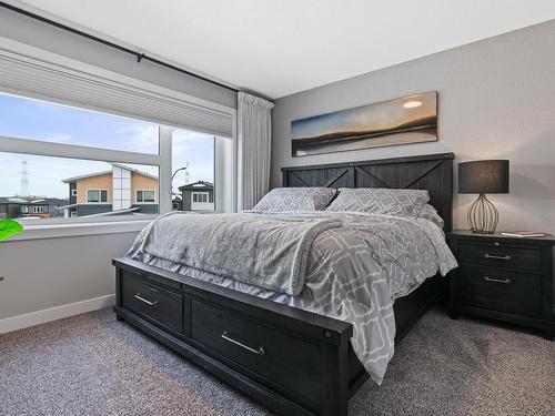
[[[317,345],[194,300],[191,301],[191,338],[307,399],[315,400],[321,395]]]

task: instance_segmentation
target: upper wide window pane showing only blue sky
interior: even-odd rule
[[[1,93],[0,135],[159,153],[157,124]]]

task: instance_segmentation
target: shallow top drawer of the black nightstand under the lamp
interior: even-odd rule
[[[473,265],[541,272],[542,253],[537,248],[465,244],[458,245],[458,261]]]

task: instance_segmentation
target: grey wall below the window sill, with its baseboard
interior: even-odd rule
[[[135,236],[125,232],[1,242],[0,333],[111,304],[115,281],[110,261],[123,255]]]

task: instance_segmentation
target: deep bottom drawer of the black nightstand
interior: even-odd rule
[[[542,314],[539,275],[463,266],[457,278],[463,305],[535,317]]]

